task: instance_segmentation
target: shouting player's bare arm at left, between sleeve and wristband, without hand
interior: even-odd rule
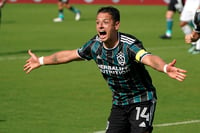
[[[63,64],[77,59],[79,59],[79,56],[77,55],[76,50],[60,51],[50,56],[43,57],[43,64],[44,65]]]

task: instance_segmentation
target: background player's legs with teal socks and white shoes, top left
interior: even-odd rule
[[[62,22],[64,20],[64,8],[69,9],[75,14],[75,20],[79,21],[81,12],[69,4],[69,0],[58,0],[58,17],[53,19],[54,22]]]

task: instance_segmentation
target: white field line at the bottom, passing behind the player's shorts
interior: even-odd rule
[[[180,122],[173,122],[173,123],[155,124],[154,127],[169,127],[169,126],[187,125],[187,124],[193,124],[193,123],[200,123],[200,120],[190,120],[190,121],[180,121]],[[105,131],[97,131],[94,133],[105,133]]]

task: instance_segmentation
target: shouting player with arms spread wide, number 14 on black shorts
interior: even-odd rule
[[[145,65],[183,81],[186,70],[166,64],[159,56],[146,51],[142,42],[119,32],[120,12],[108,6],[97,11],[97,35],[82,47],[56,52],[50,56],[31,56],[24,65],[30,73],[42,65],[94,60],[113,93],[112,110],[106,133],[151,133],[156,106],[156,90]]]

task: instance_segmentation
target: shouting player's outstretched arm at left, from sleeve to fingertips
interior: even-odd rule
[[[77,50],[66,50],[54,53],[50,56],[38,57],[31,50],[28,51],[31,56],[24,65],[24,71],[30,73],[32,70],[39,68],[41,65],[56,65],[68,63],[74,60],[81,60]]]

